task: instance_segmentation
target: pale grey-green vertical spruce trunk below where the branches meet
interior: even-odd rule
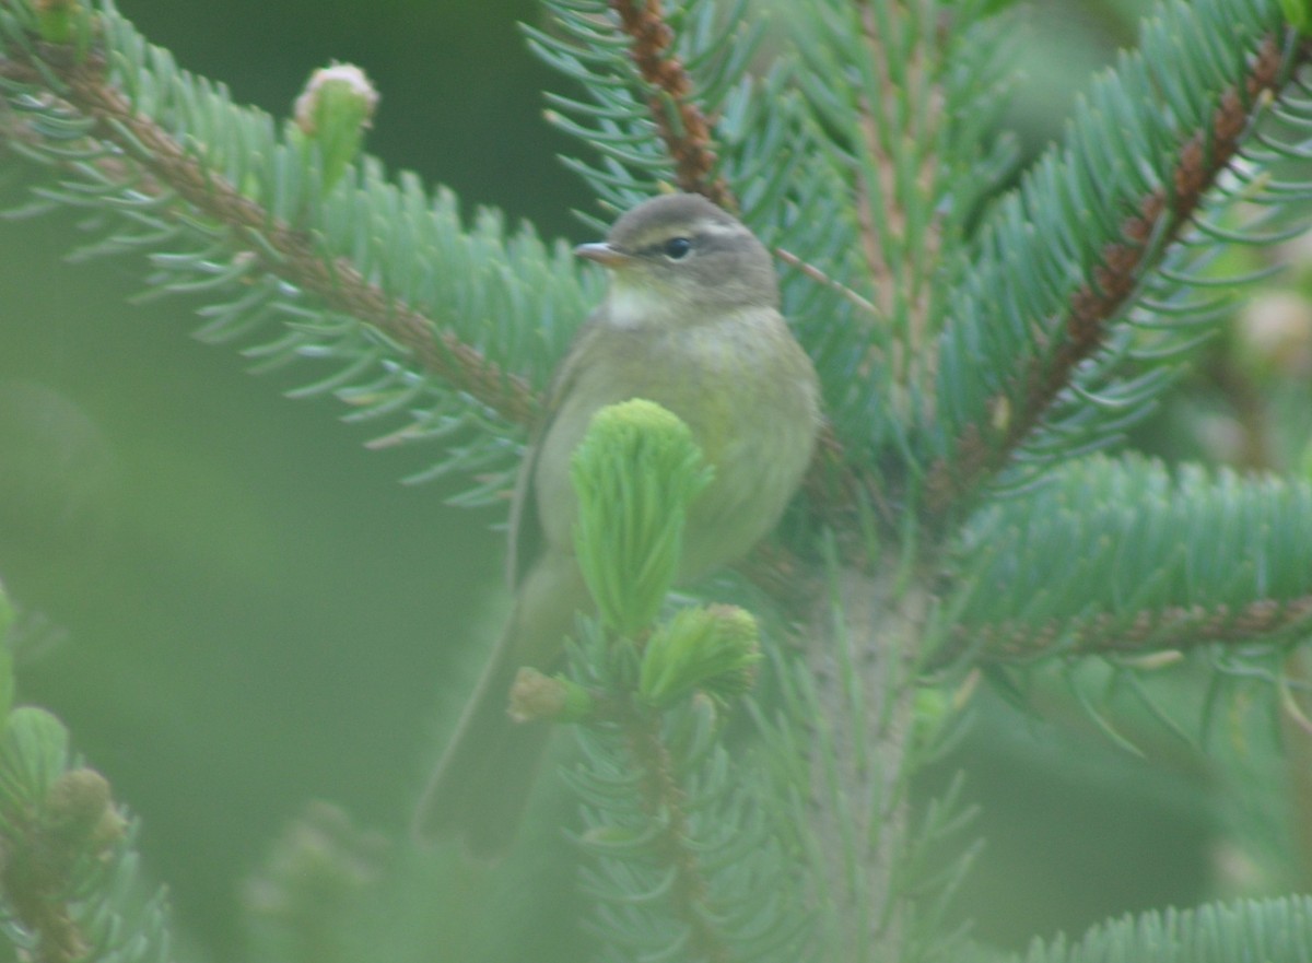
[[[892,572],[834,567],[830,576],[811,614],[804,673],[785,677],[799,686],[790,716],[806,735],[777,737],[800,739],[785,752],[800,753],[810,769],[794,819],[804,827],[827,958],[903,959],[913,896],[897,867],[913,849],[912,678],[929,600]]]

